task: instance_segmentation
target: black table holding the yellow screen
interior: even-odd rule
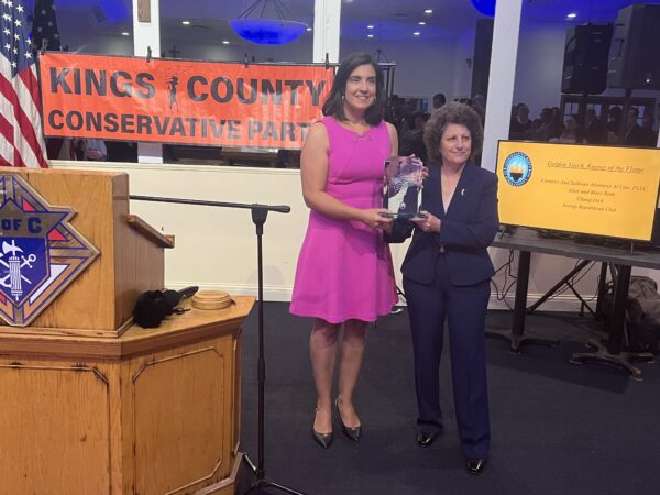
[[[652,361],[653,355],[651,353],[622,352],[628,286],[630,284],[630,272],[632,266],[660,268],[660,252],[648,249],[638,249],[631,244],[628,244],[627,246],[623,246],[622,244],[597,245],[578,242],[574,239],[547,238],[541,237],[536,230],[522,228],[497,234],[495,241],[493,241],[493,246],[518,251],[519,258],[512,330],[487,330],[486,333],[490,337],[504,337],[509,341],[510,350],[516,353],[518,353],[520,346],[526,343],[559,343],[557,341],[524,336],[525,316],[528,312],[527,286],[532,252],[583,260],[583,262],[581,262],[571,274],[566,275],[564,279],[576,273],[575,271],[584,267],[584,263],[588,263],[590,261],[612,264],[617,268],[617,276],[614,289],[614,305],[609,316],[607,345],[603,346],[600,341],[590,339],[587,345],[593,348],[594,352],[575,353],[573,354],[571,362],[575,364],[585,362],[610,364],[625,370],[634,380],[642,380],[641,371],[632,363],[639,361]],[[604,287],[604,276],[601,277],[601,286],[598,288],[600,294],[602,294]]]

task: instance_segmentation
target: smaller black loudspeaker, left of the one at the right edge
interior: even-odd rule
[[[584,24],[566,30],[562,92],[600,95],[607,89],[612,24]]]

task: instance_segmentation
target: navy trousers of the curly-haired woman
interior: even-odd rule
[[[417,425],[427,433],[442,430],[439,367],[447,321],[461,450],[466,458],[485,459],[491,427],[484,327],[491,286],[490,280],[451,285],[447,262],[447,255],[438,256],[431,284],[404,277],[415,353]]]

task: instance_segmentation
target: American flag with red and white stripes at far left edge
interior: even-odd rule
[[[41,99],[22,0],[0,0],[0,165],[47,167]]]

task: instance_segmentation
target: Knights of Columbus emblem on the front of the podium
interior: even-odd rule
[[[0,317],[30,324],[99,255],[23,178],[0,174]]]

